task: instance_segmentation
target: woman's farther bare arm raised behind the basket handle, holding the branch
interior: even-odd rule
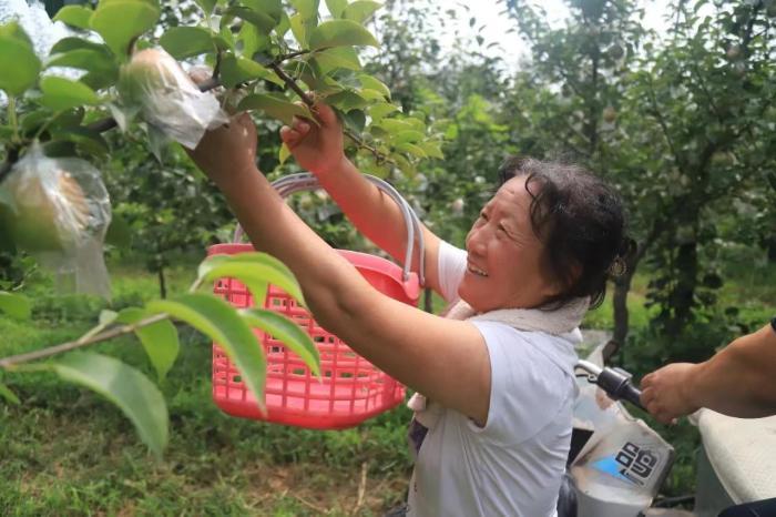
[[[367,239],[385,250],[399,263],[407,251],[407,230],[396,203],[361,173],[343,152],[343,131],[334,111],[317,104],[320,125],[295,120],[285,126],[280,136],[297,162],[314,173],[321,186],[343,209],[345,215]],[[439,237],[422,226],[426,245],[426,285],[439,292],[437,261]],[[418,255],[411,267],[418,271]]]

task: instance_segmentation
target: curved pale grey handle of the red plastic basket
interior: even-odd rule
[[[415,252],[415,242],[418,242],[418,280],[420,285],[426,285],[426,264],[425,264],[425,243],[423,243],[423,232],[418,219],[418,214],[415,213],[412,207],[407,203],[401,194],[385,180],[380,180],[377,176],[370,174],[364,174],[370,183],[377,186],[380,191],[387,194],[396,204],[399,206],[399,211],[405,220],[405,227],[407,230],[407,252],[405,254],[405,264],[401,268],[401,278],[407,282],[410,275],[410,268],[412,265],[412,253]],[[307,172],[298,174],[289,174],[275,180],[272,183],[273,187],[280,194],[282,197],[287,197],[290,194],[302,191],[312,191],[320,189],[320,183],[318,179]],[[234,231],[233,242],[238,243],[243,239],[243,227],[237,224]]]

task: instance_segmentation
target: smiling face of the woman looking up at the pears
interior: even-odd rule
[[[458,295],[477,312],[537,307],[560,291],[531,227],[530,206],[525,176],[512,178],[469,231],[467,271]]]

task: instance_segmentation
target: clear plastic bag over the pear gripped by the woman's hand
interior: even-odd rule
[[[194,149],[208,129],[228,121],[215,95],[201,92],[186,72],[162,49],[136,52],[122,67],[119,93],[131,112],[182,145]]]

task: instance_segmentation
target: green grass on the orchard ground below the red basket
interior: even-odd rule
[[[185,290],[195,264],[170,272],[171,293]],[[48,294],[49,278],[32,278],[25,293],[33,321],[0,317],[0,356],[75,338],[94,325],[101,308],[156,296],[154,275],[126,264],[111,272],[112,304],[54,296]],[[233,418],[211,399],[211,344],[186,328],[181,341],[181,355],[161,386],[171,418],[162,460],[147,453],[119,409],[91,392],[50,374],[6,374],[3,382],[22,404],[0,403],[0,514],[371,516],[404,499],[408,409],[343,432]],[[93,349],[154,378],[132,337]],[[356,508],[363,465],[365,496]]]

